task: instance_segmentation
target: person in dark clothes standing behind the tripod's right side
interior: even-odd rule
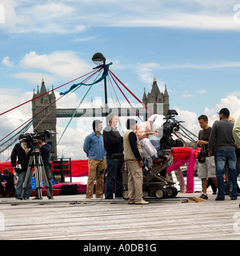
[[[44,170],[46,172],[46,178],[49,184],[49,190],[51,194],[51,197],[49,199],[54,199],[53,186],[51,182],[52,173],[50,170],[50,162],[49,162],[51,146],[50,144],[47,144],[46,142],[42,142],[41,140],[39,140],[38,147],[42,155],[42,162],[44,165]],[[40,199],[38,195],[38,190],[36,189],[35,191],[36,191],[36,197],[34,199]]]

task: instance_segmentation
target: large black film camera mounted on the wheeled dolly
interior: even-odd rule
[[[180,139],[174,140],[172,134],[177,132],[180,129],[179,122],[175,119],[175,116],[178,115],[176,110],[168,110],[168,117],[166,122],[163,124],[163,135],[160,140],[160,145],[162,150],[170,150],[175,146],[183,146],[183,142]]]

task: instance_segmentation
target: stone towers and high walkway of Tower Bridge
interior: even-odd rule
[[[100,107],[100,108],[78,108],[76,109],[58,109],[56,106],[56,96],[54,94],[54,90],[50,92],[50,94],[46,94],[46,86],[45,82],[42,79],[42,86],[39,91],[39,87],[37,86],[37,91],[33,94],[32,101],[32,114],[33,117],[38,114],[39,112],[42,113],[36,116],[36,120],[33,124],[34,132],[35,133],[43,133],[45,130],[53,130],[57,133],[56,124],[57,118],[71,118],[74,114],[75,118],[79,117],[87,117],[87,118],[99,118],[99,117],[106,117],[110,113],[118,114],[119,117],[128,117],[128,116],[140,116],[142,117],[143,121],[145,121],[148,117],[150,117],[150,112],[146,110],[145,107],[137,107],[133,110],[131,107],[118,107],[118,108],[110,108]],[[43,95],[42,97],[36,98],[39,95]],[[154,82],[152,84],[152,89],[150,93],[146,95],[146,89],[144,89],[144,94],[142,97],[142,102],[149,110],[152,111],[154,114],[164,114],[166,116],[167,111],[170,108],[170,101],[169,101],[169,94],[166,90],[164,93],[161,93],[156,78],[154,78]],[[76,112],[76,113],[75,113]],[[53,134],[51,138],[46,138],[46,142],[52,143],[52,148],[54,148],[53,155],[54,157],[57,156],[57,139],[56,136]]]

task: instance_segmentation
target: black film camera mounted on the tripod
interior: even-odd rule
[[[46,142],[52,146],[51,151],[54,152],[53,148],[53,142],[54,140],[51,138],[54,135],[54,131],[52,130],[45,130],[43,133],[40,134],[21,134],[19,136],[19,141],[20,142],[26,142],[27,148],[30,149],[38,149],[38,145],[40,142]]]

